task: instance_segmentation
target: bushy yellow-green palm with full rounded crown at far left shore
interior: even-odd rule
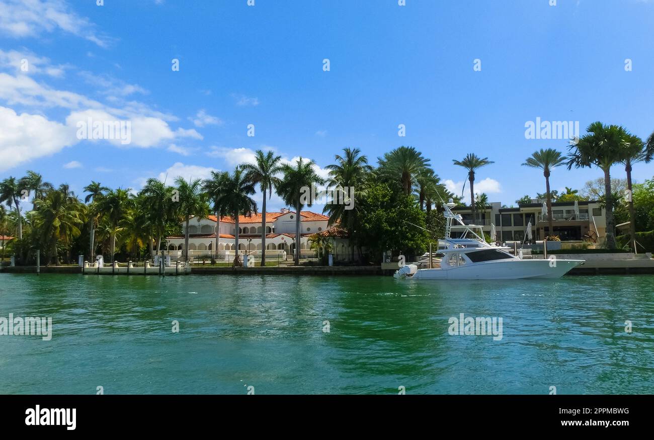
[[[34,229],[46,256],[46,265],[53,260],[58,263],[57,247],[60,242],[69,248],[72,240],[80,235],[79,226],[84,223],[82,206],[77,199],[71,199],[56,190],[50,190],[35,199],[38,215]]]

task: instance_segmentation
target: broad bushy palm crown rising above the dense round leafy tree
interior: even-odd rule
[[[429,161],[413,146],[400,146],[379,158],[379,171],[383,177],[399,181],[404,194],[409,195]]]

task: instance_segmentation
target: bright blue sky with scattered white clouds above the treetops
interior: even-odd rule
[[[651,0],[104,3],[0,0],[0,178],[33,169],[78,194],[91,180],[137,190],[232,170],[258,148],[324,173],[345,146],[376,162],[409,145],[457,192],[466,173],[452,160],[488,156],[475,189],[511,205],[544,191],[525,158],[568,144],[526,139],[526,122],[654,130]],[[88,116],[130,120],[131,143],[77,139]],[[597,177],[562,167],[551,184]]]

